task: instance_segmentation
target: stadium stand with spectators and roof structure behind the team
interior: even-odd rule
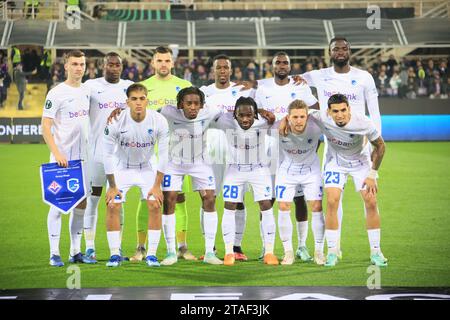
[[[63,78],[57,58],[72,48],[87,51],[93,59],[94,67],[86,71],[87,78],[101,75],[96,57],[116,50],[126,58],[123,77],[139,81],[152,73],[152,49],[175,44],[179,52],[175,72],[202,85],[212,81],[209,59],[216,53],[225,51],[233,58],[237,79],[271,76],[270,57],[278,50],[289,52],[293,73],[299,73],[326,66],[329,40],[345,35],[352,43],[352,64],[372,73],[380,95],[448,97],[450,1],[373,1],[370,4],[381,10],[379,28],[375,29],[367,26],[367,1],[356,0],[47,0],[36,5],[31,2],[31,15],[25,4],[4,1],[0,5],[3,59],[8,60],[13,45],[35,48],[39,54],[43,48],[49,49],[55,62],[49,77],[53,83]],[[73,5],[82,11],[69,10]],[[230,10],[240,10],[241,15],[234,17],[237,11]],[[280,17],[269,18],[268,12]],[[290,15],[284,16],[287,12]],[[77,17],[80,28],[73,28],[68,21]],[[10,72],[11,66],[5,61],[3,64]],[[44,78],[30,78],[25,100],[37,115],[42,107],[39,94],[46,92]],[[12,84],[0,116],[9,116],[9,112],[31,116],[29,109],[17,114],[16,98]]]

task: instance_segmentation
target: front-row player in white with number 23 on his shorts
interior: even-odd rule
[[[334,94],[328,100],[327,114],[313,111],[310,117],[321,127],[328,140],[324,169],[324,187],[327,195],[325,238],[328,255],[325,266],[337,263],[339,221],[337,210],[342,190],[351,175],[356,191],[361,193],[366,212],[366,227],[370,243],[370,261],[387,266],[380,248],[380,215],[377,207],[377,171],[384,156],[385,144],[374,123],[359,112],[352,112],[343,94]],[[373,146],[372,154],[367,140]]]

